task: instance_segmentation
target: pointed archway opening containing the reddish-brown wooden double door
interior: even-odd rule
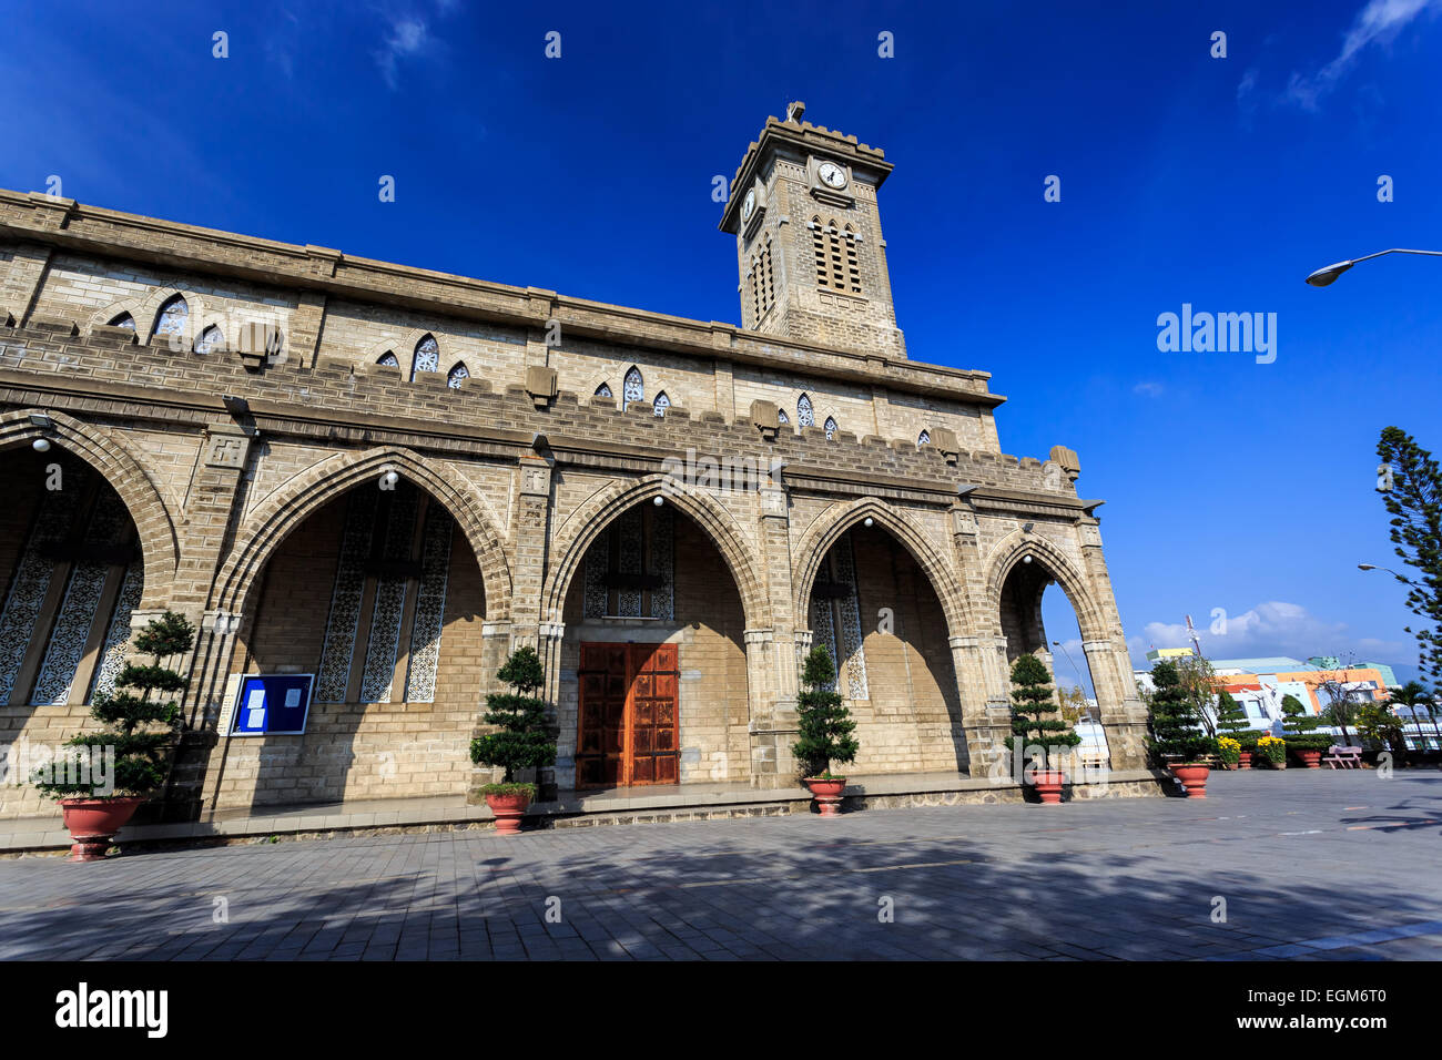
[[[746,780],[746,619],[714,538],[659,493],[591,531],[567,564],[558,786]]]

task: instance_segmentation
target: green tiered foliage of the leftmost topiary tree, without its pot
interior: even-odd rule
[[[166,611],[151,619],[136,635],[136,650],[153,662],[149,666],[127,662],[115,678],[115,691],[98,694],[91,705],[91,717],[105,723],[107,730],[71,737],[66,746],[76,750],[36,770],[35,786],[56,798],[120,798],[150,795],[164,785],[166,751],[180,728],[180,707],[164,697],[183,691],[189,681],[160,661],[185,655],[193,643],[195,626],[185,616]],[[160,698],[153,699],[157,692]],[[107,748],[114,748],[114,776],[98,777],[92,763]]]

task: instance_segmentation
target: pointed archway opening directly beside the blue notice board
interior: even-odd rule
[[[467,792],[487,600],[440,499],[359,482],[287,528],[242,603],[234,669],[314,675],[311,704],[303,734],[225,725],[216,806]]]

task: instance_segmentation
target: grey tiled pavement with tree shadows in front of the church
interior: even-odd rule
[[[0,958],[1442,959],[1442,773],[1210,795],[10,858]]]

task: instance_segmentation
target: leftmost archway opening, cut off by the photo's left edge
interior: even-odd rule
[[[125,502],[78,456],[12,449],[0,496],[0,740],[27,773],[114,691],[146,570]],[[35,789],[0,786],[0,815],[40,811]]]

